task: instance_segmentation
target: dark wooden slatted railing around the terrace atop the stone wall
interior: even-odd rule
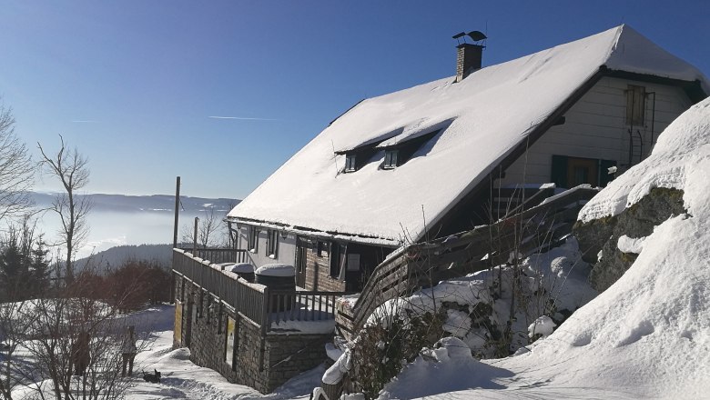
[[[212,257],[206,260],[186,250],[173,249],[173,271],[259,325],[263,335],[271,330],[272,323],[335,318],[335,298],[342,295],[340,292],[269,290],[265,285],[251,284],[224,271],[220,265],[244,260],[245,253],[236,249],[198,249],[198,255]]]

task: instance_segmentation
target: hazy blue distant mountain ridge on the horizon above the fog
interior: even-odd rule
[[[113,211],[124,213],[169,212],[175,211],[174,195],[87,195],[91,197],[94,211]],[[53,193],[33,192],[32,198],[40,208],[52,205]],[[180,210],[195,214],[214,209],[215,212],[227,213],[241,200],[229,198],[207,198],[180,196]]]

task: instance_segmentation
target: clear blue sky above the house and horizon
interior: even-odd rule
[[[710,2],[5,1],[0,95],[36,155],[59,134],[87,191],[243,198],[362,98],[622,23],[710,75]],[[229,118],[216,118],[229,117]],[[38,178],[38,190],[56,187]]]

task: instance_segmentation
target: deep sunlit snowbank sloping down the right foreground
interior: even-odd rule
[[[580,218],[619,214],[657,186],[685,190],[689,214],[656,226],[626,274],[552,335],[486,362],[440,350],[439,361],[407,365],[381,398],[710,398],[710,99]]]

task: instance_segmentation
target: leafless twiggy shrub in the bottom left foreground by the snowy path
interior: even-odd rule
[[[130,383],[118,370],[129,324],[118,317],[123,299],[108,301],[105,277],[90,268],[62,290],[56,298],[34,302],[35,335],[23,343],[34,361],[32,375],[25,376],[28,387],[37,398],[122,398]],[[145,340],[139,350],[143,345]]]

